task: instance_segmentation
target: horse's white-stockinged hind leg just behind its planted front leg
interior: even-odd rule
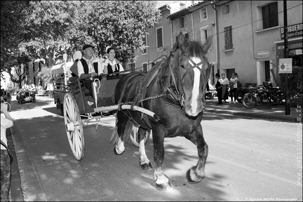
[[[138,141],[139,141],[139,152],[140,152],[140,166],[142,170],[152,170],[152,164],[150,163],[147,155],[145,153],[145,145],[144,145],[144,138],[146,135],[146,131],[144,128],[139,128],[138,130]]]

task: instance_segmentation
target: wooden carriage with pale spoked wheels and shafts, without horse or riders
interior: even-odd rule
[[[83,126],[93,124],[97,126],[98,123],[102,122],[102,117],[105,114],[118,109],[118,105],[114,105],[112,99],[119,76],[116,79],[105,81],[101,81],[102,79],[98,77],[90,78],[90,80],[93,79],[91,85],[94,98],[94,104],[90,106],[87,102],[90,92],[86,88],[84,81],[80,80],[78,76],[69,77],[71,75],[67,74],[72,64],[73,62],[67,62],[66,64],[52,67],[53,98],[57,109],[60,109],[61,114],[64,116],[67,137],[72,152],[76,159],[81,160],[84,156]],[[130,109],[130,105],[123,105],[121,109]],[[154,116],[154,113],[141,107],[135,107],[135,110]],[[137,126],[134,125],[130,140],[139,147],[137,130]],[[144,142],[149,140],[150,133],[151,130],[148,131]]]

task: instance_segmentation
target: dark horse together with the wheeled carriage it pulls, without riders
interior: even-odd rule
[[[201,45],[198,41],[185,39],[180,33],[173,51],[163,55],[166,56],[164,60],[156,62],[149,72],[132,72],[107,81],[93,79],[93,107],[88,105],[88,92],[83,82],[78,77],[69,79],[60,102],[67,137],[76,159],[82,159],[84,154],[83,125],[96,119],[92,115],[95,112],[116,110],[116,127],[111,138],[114,154],[125,152],[124,144],[128,137],[131,139],[130,132],[135,124],[138,126],[140,167],[151,170],[144,142],[147,133],[152,130],[156,187],[160,190],[171,189],[162,170],[164,138],[183,136],[196,144],[198,149],[198,163],[187,171],[187,181],[200,182],[205,177],[208,156],[201,121],[206,83],[211,72],[206,53],[212,39],[213,36],[208,37],[206,43]],[[82,114],[88,114],[88,119],[81,119]]]

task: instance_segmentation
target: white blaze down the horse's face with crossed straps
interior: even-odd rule
[[[201,62],[200,58],[191,58],[191,60],[193,60],[196,64],[198,64],[199,62]],[[191,61],[189,61],[189,63],[191,65],[194,66],[194,64],[192,64]],[[202,69],[202,65],[199,65],[198,67],[200,67]],[[191,113],[193,115],[198,114],[198,92],[200,89],[200,70],[198,70],[197,68],[194,68],[194,85],[193,85],[193,89],[191,91]]]

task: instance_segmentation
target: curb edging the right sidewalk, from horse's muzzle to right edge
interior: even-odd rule
[[[215,113],[215,114],[228,114],[233,116],[244,116],[248,118],[257,118],[257,119],[269,119],[274,121],[285,121],[290,123],[301,123],[297,118],[285,116],[276,116],[275,114],[257,114],[255,112],[231,112],[229,110],[221,109],[206,109],[206,113]]]

